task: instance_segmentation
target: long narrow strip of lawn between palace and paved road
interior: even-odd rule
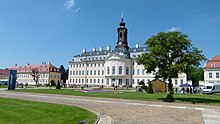
[[[26,89],[16,90],[18,92],[34,92],[34,93],[47,93],[47,94],[63,94],[75,96],[89,96],[89,97],[104,97],[104,98],[119,98],[131,100],[146,100],[146,101],[164,101],[166,93],[147,94],[146,92],[93,92],[85,93],[76,89]],[[211,104],[220,105],[220,95],[202,95],[202,94],[175,94],[176,102],[193,103],[193,104]]]

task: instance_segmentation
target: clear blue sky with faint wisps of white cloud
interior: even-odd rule
[[[219,0],[1,0],[0,68],[67,67],[83,48],[114,48],[122,13],[130,47],[177,30],[210,59],[220,54],[219,6]]]

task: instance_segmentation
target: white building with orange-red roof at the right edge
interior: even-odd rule
[[[220,55],[210,59],[204,67],[204,82],[220,83]]]

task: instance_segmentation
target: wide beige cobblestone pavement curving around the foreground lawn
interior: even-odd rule
[[[209,124],[204,119],[206,117],[202,114],[202,110],[217,109],[214,111],[220,115],[218,106],[9,91],[1,91],[0,97],[79,106],[99,115],[101,117],[99,124],[202,124],[204,122]]]

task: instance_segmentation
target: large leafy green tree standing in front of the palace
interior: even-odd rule
[[[200,65],[206,60],[202,51],[193,47],[187,35],[181,32],[159,32],[149,38],[146,43],[149,52],[142,54],[138,64],[143,64],[147,72],[156,72],[155,78],[169,82],[169,94],[173,94],[172,78],[179,73],[186,73],[190,66]]]

